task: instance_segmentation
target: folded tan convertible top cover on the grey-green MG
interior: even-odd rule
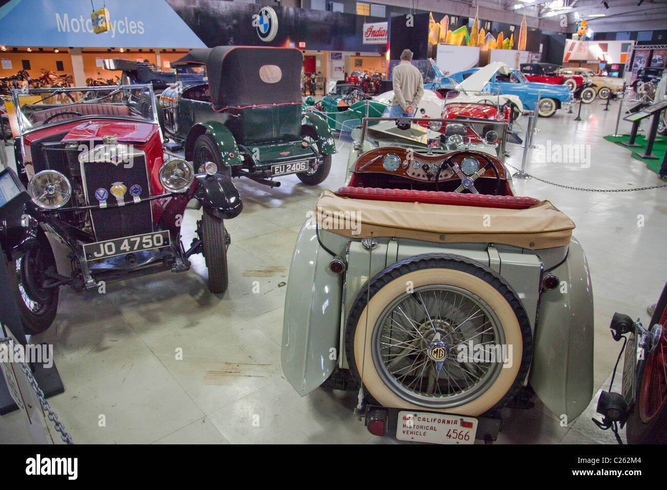
[[[502,209],[351,199],[324,191],[315,214],[320,229],[347,237],[365,238],[373,232],[374,237],[505,243],[526,249],[568,245],[574,229],[572,220],[549,201],[528,209]]]

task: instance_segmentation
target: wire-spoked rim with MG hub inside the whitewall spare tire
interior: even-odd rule
[[[414,403],[466,403],[502,369],[494,349],[504,345],[498,317],[464,289],[434,285],[405,293],[378,326],[372,343],[380,377]]]

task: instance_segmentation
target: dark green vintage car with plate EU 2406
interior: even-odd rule
[[[297,174],[307,185],[329,175],[336,145],[326,121],[304,113],[298,49],[218,46],[171,63],[177,82],[160,95],[163,131],[195,169],[213,162],[230,177],[278,187]],[[191,75],[201,73],[202,81]],[[187,82],[179,77],[187,75]],[[175,148],[176,149],[176,148]]]

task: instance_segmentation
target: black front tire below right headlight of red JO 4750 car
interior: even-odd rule
[[[201,219],[201,239],[204,260],[209,273],[209,289],[211,293],[224,293],[229,285],[225,223],[206,210]]]

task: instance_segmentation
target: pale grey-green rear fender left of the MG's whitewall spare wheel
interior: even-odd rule
[[[336,243],[343,249],[348,242],[341,235],[319,233],[326,235],[328,247]],[[327,380],[340,355],[343,275],[329,270],[331,259],[317,239],[313,212],[301,227],[292,254],[280,349],[285,378],[301,396]]]

